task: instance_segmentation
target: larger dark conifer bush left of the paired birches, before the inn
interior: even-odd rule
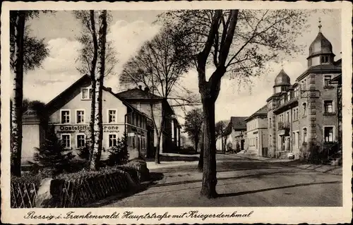
[[[49,174],[59,174],[68,169],[69,162],[75,157],[71,150],[65,149],[54,133],[54,127],[47,133],[45,142],[36,150],[35,163],[32,164],[37,164]]]

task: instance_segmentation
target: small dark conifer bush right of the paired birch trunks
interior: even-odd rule
[[[118,140],[116,140],[116,147],[108,151],[110,153],[107,160],[109,166],[126,164],[126,162],[128,162],[128,149],[124,137],[118,138]]]

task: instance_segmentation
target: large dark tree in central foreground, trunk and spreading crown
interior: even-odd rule
[[[194,56],[198,89],[203,104],[205,147],[201,195],[216,197],[215,101],[221,79],[249,82],[261,75],[265,63],[292,54],[308,11],[303,10],[201,10],[169,11],[160,15],[167,27],[179,30],[179,44]],[[206,67],[214,69],[206,80]]]

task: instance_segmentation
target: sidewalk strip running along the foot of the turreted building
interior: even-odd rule
[[[265,161],[265,162],[279,162],[280,164],[283,164],[285,166],[291,166],[295,167],[298,169],[307,169],[311,171],[317,171],[321,173],[327,173],[327,174],[334,174],[334,175],[342,175],[342,166],[330,166],[330,165],[323,165],[323,164],[306,164],[304,162],[299,162],[298,160],[292,160],[292,159],[274,159],[274,158],[267,158],[267,157],[261,157],[258,155],[251,155],[251,154],[237,154],[238,157],[243,157],[246,159],[253,159],[253,160],[258,160],[258,161]]]

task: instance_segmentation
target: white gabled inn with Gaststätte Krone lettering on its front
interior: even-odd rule
[[[46,104],[48,125],[62,140],[67,150],[77,153],[85,147],[89,136],[92,88],[90,77],[84,75],[64,92]],[[150,149],[150,118],[133,105],[114,94],[109,87],[102,93],[103,150],[102,159],[107,159],[109,149],[116,146],[118,138],[126,136],[130,159],[147,157]],[[44,124],[35,111],[23,115],[23,163],[32,161],[35,147],[44,142]]]

